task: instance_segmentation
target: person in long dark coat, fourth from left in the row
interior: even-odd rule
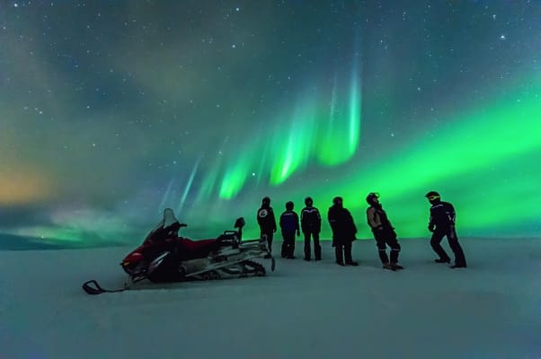
[[[353,222],[353,217],[346,208],[343,207],[341,197],[333,198],[333,206],[329,207],[327,219],[333,230],[333,247],[336,257],[336,263],[340,266],[359,266],[351,258],[351,242],[355,241],[357,227]]]

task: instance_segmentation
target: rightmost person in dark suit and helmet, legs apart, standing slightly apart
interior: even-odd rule
[[[458,243],[457,231],[455,230],[455,208],[448,202],[441,200],[439,193],[430,191],[425,195],[430,202],[430,220],[429,231],[432,232],[430,246],[432,250],[438,254],[439,258],[435,259],[436,263],[450,263],[446,251],[441,247],[441,240],[447,236],[449,247],[455,254],[455,265],[451,268],[466,268],[466,258],[464,251]]]

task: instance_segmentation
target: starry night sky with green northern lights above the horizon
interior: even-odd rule
[[[0,2],[0,249],[214,238],[365,197],[426,238],[538,237],[540,1]],[[278,235],[279,238],[279,235]],[[32,248],[34,248],[32,247]]]

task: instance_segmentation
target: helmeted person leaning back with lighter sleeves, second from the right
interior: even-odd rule
[[[400,244],[396,241],[395,228],[387,218],[386,211],[379,203],[379,195],[371,192],[368,194],[367,202],[367,220],[368,225],[374,233],[374,239],[376,240],[377,250],[381,264],[385,269],[403,269],[404,267],[398,265],[398,255],[400,253]],[[386,246],[391,248],[390,257],[387,257]]]

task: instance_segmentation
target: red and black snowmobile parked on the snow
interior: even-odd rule
[[[231,277],[265,276],[265,267],[256,258],[270,258],[270,269],[276,262],[270,254],[266,235],[259,240],[243,241],[244,218],[235,221],[235,231],[225,231],[216,239],[192,241],[182,236],[156,241],[150,232],[145,241],[122,259],[120,266],[129,275],[123,289],[107,291],[95,281],[84,283],[86,293],[120,292],[138,282],[183,282],[216,280]],[[181,223],[180,227],[187,224]],[[91,285],[94,285],[93,288]]]

